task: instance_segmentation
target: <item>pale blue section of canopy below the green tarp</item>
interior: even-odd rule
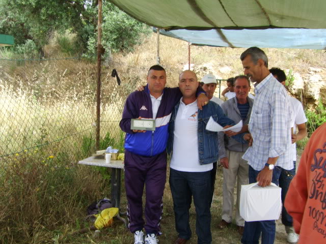
[[[216,29],[207,31],[176,29],[169,32],[160,29],[160,34],[193,45],[215,47],[326,48],[326,29],[221,29],[220,32]]]

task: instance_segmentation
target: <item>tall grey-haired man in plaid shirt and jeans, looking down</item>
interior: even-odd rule
[[[255,102],[249,121],[252,146],[242,156],[249,164],[249,184],[261,187],[271,182],[278,185],[281,169],[293,168],[291,160],[290,103],[284,86],[268,70],[268,59],[263,50],[251,47],[240,59],[244,74],[255,84]],[[273,244],[275,221],[246,222],[241,243]]]

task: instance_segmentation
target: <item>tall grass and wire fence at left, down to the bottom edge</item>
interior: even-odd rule
[[[119,121],[127,96],[146,84],[145,66],[102,63],[100,149],[123,150]],[[176,86],[182,66],[162,66],[167,86]],[[0,243],[48,243],[82,225],[86,207],[108,196],[110,171],[77,164],[96,150],[96,70],[81,57],[0,57]]]

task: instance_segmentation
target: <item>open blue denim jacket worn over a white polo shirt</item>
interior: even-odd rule
[[[167,151],[168,154],[172,153],[173,149],[173,137],[174,137],[174,125],[175,118],[179,109],[180,102],[172,110],[172,115],[169,124],[169,140]],[[208,103],[203,106],[203,110],[198,110],[198,155],[200,164],[210,164],[218,161],[219,158],[219,147],[218,147],[218,133],[207,131],[206,125],[210,116],[213,117],[214,121],[218,122],[221,126],[235,125],[234,121],[228,118],[220,105],[216,103]],[[243,140],[243,134],[232,136],[241,143],[248,143]]]

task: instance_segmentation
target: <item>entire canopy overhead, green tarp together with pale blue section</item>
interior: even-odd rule
[[[325,0],[111,2],[135,19],[170,31],[163,31],[162,34],[193,44],[311,49],[326,47]]]

